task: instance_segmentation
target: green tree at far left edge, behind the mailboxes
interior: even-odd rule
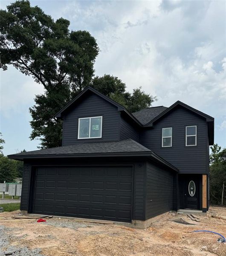
[[[0,182],[14,182],[17,177],[15,160],[0,154]]]

